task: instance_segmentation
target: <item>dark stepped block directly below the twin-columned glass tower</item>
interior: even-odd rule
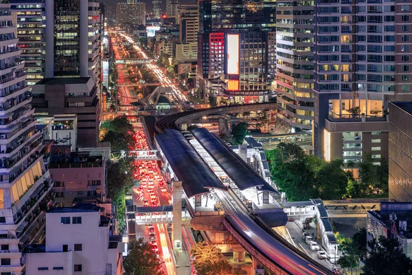
[[[100,124],[97,93],[90,77],[43,78],[32,88],[32,104],[36,115],[76,115],[76,146],[95,147]]]

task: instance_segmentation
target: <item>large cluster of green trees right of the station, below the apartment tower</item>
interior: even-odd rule
[[[280,142],[275,149],[266,151],[266,157],[273,181],[286,192],[289,201],[361,197],[369,186],[387,186],[385,159],[381,165],[374,165],[371,155],[360,164],[361,181],[354,179],[354,163],[345,166],[342,159],[325,162],[306,154],[297,144]]]

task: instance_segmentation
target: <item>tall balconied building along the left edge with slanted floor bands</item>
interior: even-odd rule
[[[5,1],[4,1],[5,2]],[[24,274],[24,245],[44,236],[49,172],[17,46],[10,3],[0,3],[0,274]]]

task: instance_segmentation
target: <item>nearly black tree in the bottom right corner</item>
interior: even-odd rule
[[[363,275],[407,275],[411,272],[412,260],[402,252],[396,239],[379,236],[378,242],[371,243]]]

